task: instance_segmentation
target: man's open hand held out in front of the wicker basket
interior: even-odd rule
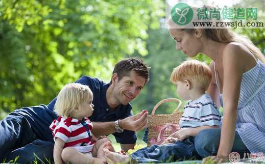
[[[148,111],[143,110],[141,113],[119,120],[119,125],[122,129],[138,131],[147,127]]]

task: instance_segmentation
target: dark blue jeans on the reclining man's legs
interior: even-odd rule
[[[17,156],[17,163],[31,163],[35,159],[48,163],[46,159],[53,160],[53,147],[52,142],[38,140],[26,118],[17,113],[0,121],[0,163]]]

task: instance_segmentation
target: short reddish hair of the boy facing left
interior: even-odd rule
[[[212,74],[210,67],[198,60],[189,60],[176,67],[171,74],[172,83],[185,79],[196,83],[202,89],[207,90],[211,82]]]

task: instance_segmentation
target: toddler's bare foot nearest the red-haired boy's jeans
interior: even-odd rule
[[[103,149],[104,156],[107,162],[112,163],[129,163],[130,157],[128,155],[118,154],[116,152],[111,152],[108,149]]]

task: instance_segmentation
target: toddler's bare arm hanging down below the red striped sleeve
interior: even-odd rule
[[[63,164],[62,151],[64,147],[64,141],[60,138],[56,138],[54,143],[54,163]]]

